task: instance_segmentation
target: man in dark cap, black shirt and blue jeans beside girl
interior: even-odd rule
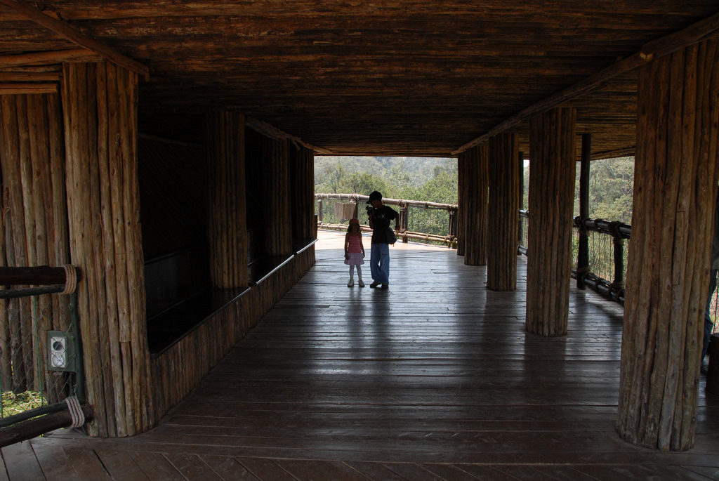
[[[382,194],[374,191],[367,201],[372,207],[367,208],[372,227],[372,250],[370,251],[370,270],[372,272],[371,288],[381,284],[383,289],[390,285],[390,245],[388,230],[390,221],[395,221],[395,232],[398,229],[399,214],[389,206],[382,203]]]

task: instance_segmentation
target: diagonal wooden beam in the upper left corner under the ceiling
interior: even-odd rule
[[[27,2],[19,0],[0,0],[0,4],[14,9],[16,12],[19,12],[27,17],[27,19],[32,20],[32,22],[52,30],[52,32],[55,32],[66,40],[73,42],[75,45],[92,50],[93,52],[101,55],[101,57],[110,60],[112,63],[123,68],[127,68],[127,70],[137,73],[138,75],[142,75],[145,80],[147,80],[150,76],[150,69],[148,69],[145,65],[142,65],[142,63],[137,62],[137,60],[132,60],[132,58],[125,57],[121,53],[116,52],[116,50],[112,50],[110,47],[101,44],[97,40],[81,34],[65,22],[61,22],[58,19],[45,15],[40,12],[40,10],[35,8],[35,6],[32,6]]]

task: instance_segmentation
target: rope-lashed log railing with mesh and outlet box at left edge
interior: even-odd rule
[[[71,265],[0,267],[0,447],[92,418],[77,281]]]

